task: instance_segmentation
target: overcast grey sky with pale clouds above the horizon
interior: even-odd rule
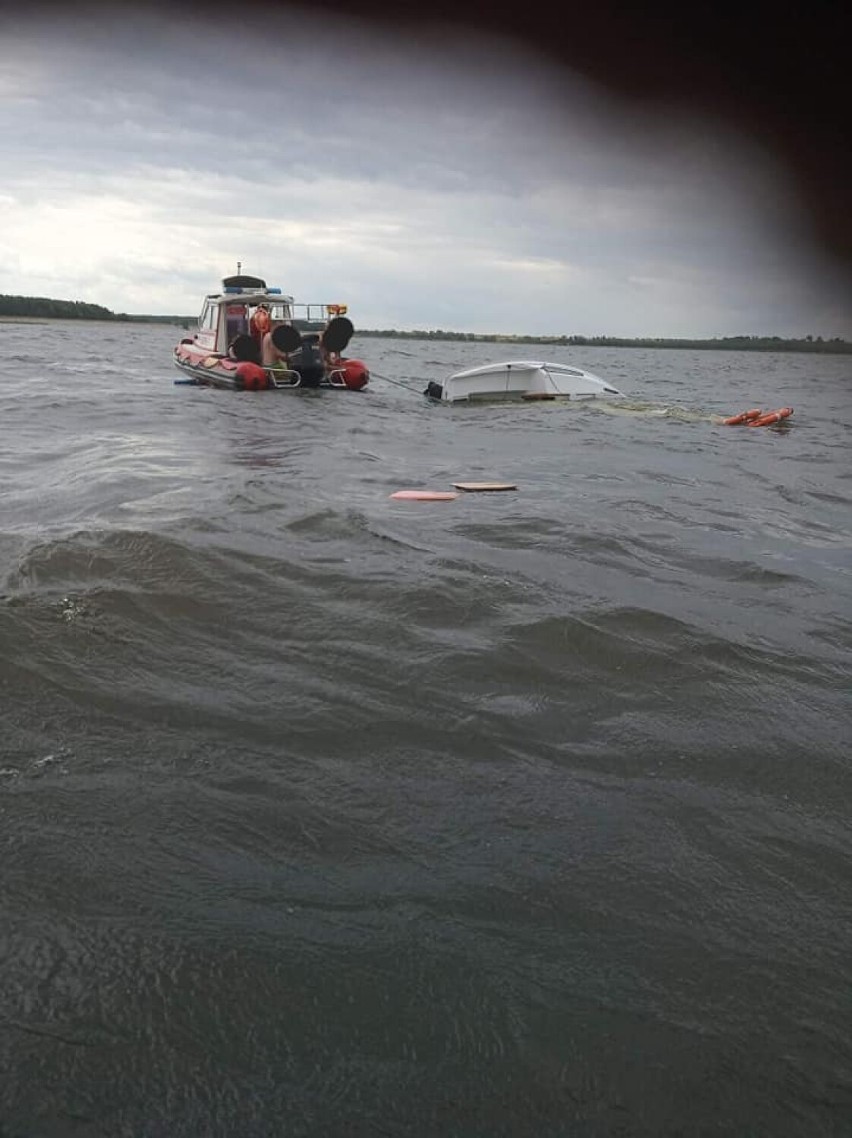
[[[362,328],[852,337],[784,172],[719,123],[457,31],[5,11],[0,292],[195,315],[240,261]]]

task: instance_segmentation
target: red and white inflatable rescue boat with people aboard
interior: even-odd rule
[[[342,355],[355,331],[345,304],[296,304],[239,267],[204,298],[196,331],[174,349],[183,382],[255,391],[366,387],[366,365]]]

